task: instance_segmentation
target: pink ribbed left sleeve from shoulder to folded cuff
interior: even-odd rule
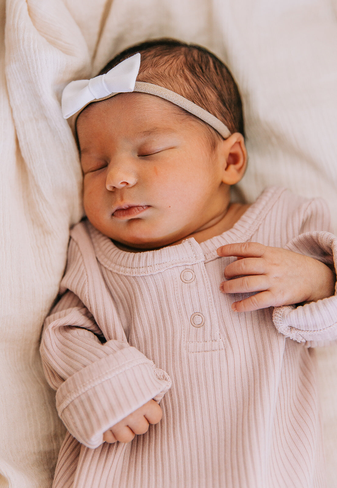
[[[90,242],[84,245],[88,254]],[[97,266],[94,254],[84,263],[77,243],[70,242],[63,295],[45,321],[40,346],[61,420],[92,448],[112,426],[148,402],[159,402],[171,386],[165,371],[128,344]]]

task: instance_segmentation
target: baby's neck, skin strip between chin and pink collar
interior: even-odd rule
[[[200,244],[204,241],[208,241],[208,239],[212,239],[212,237],[223,234],[223,232],[226,232],[227,230],[231,229],[233,225],[236,222],[238,222],[238,220],[244,214],[244,212],[247,210],[248,207],[249,204],[231,203],[226,213],[221,218],[219,218],[218,221],[214,223],[210,223],[210,225],[207,226],[206,228],[198,230],[197,232],[185,236],[183,239],[180,239],[179,241],[167,245],[170,246],[177,245],[182,243],[182,241],[185,241],[186,239],[190,239],[191,237],[193,237],[197,241],[197,243]],[[162,247],[166,247],[166,246],[161,246],[161,247],[151,247],[151,248],[149,247],[148,249],[137,249],[134,247],[129,247],[127,245],[121,244],[116,241],[114,241],[114,244],[122,251],[127,251],[127,252],[145,252],[149,250],[154,251],[156,249],[161,249]]]

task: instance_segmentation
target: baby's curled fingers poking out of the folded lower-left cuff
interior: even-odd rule
[[[150,400],[104,432],[103,441],[110,444],[116,441],[130,442],[136,434],[145,434],[149,424],[158,424],[161,417],[158,403]]]

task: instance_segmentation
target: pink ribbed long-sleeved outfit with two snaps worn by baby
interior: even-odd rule
[[[54,488],[325,487],[314,349],[337,298],[236,313],[219,291],[233,242],[332,264],[320,199],[265,190],[222,235],[129,253],[84,221],[45,323],[43,366],[68,429]],[[248,295],[246,295],[248,296]],[[151,398],[162,420],[128,444],[102,434]]]

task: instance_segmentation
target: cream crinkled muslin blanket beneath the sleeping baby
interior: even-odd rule
[[[328,0],[0,1],[0,488],[51,486],[64,427],[39,357],[81,173],[60,95],[124,47],[205,45],[240,87],[249,168],[237,198],[279,184],[322,196],[337,231],[337,5]],[[337,347],[318,350],[329,487],[336,487]]]

